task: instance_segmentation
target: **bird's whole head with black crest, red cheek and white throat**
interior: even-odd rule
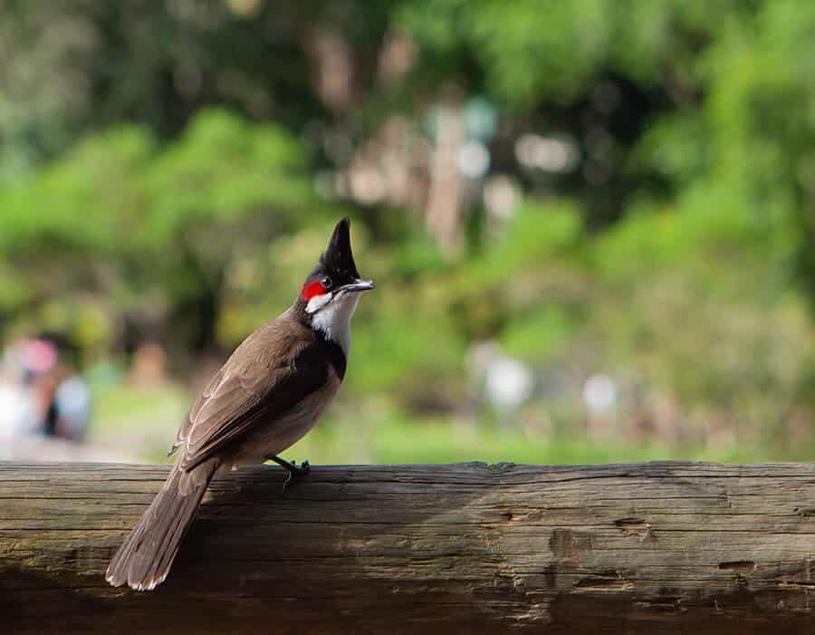
[[[320,261],[302,284],[300,302],[313,329],[348,349],[351,315],[361,291],[374,288],[362,280],[350,248],[350,220],[343,218],[334,227],[331,240]]]

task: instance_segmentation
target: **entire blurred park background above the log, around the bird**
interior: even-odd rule
[[[287,457],[813,458],[813,57],[799,0],[0,0],[0,457],[163,460],[350,215]]]

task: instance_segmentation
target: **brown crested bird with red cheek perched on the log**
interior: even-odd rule
[[[292,305],[249,335],[197,397],[168,456],[167,481],[108,566],[105,579],[152,591],[164,582],[209,482],[233,467],[273,460],[292,475],[308,471],[280,454],[311,430],[345,377],[350,319],[363,280],[350,247],[350,220],[329,245]]]

